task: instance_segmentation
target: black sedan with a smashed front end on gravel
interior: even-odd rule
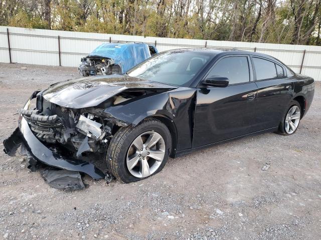
[[[107,169],[132,182],[160,171],[170,156],[268,131],[293,134],[313,94],[311,77],[265,54],[170,50],[124,75],[67,80],[34,92],[5,151],[14,154],[23,144],[31,164],[95,179]],[[102,156],[96,159],[105,168],[84,160],[88,154]]]

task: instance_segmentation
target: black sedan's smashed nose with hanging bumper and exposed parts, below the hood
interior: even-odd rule
[[[36,107],[31,107],[37,98]],[[61,107],[47,101],[42,92],[34,92],[20,111],[18,128],[4,140],[5,152],[11,156],[22,146],[29,164],[39,161],[46,165],[84,172],[93,179],[106,176],[83,154],[105,154],[112,124],[102,116],[83,109]]]

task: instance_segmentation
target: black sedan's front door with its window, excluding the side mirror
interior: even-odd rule
[[[252,81],[250,57],[246,54],[223,56],[205,78],[207,76],[228,77],[229,85],[210,87],[200,83],[197,87],[193,147],[253,131],[257,86]]]

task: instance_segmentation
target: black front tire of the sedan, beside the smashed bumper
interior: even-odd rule
[[[138,181],[138,180],[146,178],[146,177],[143,177],[143,175],[141,177],[137,177],[137,176],[133,175],[131,172],[134,172],[134,173],[136,173],[136,172],[133,170],[129,170],[129,166],[127,167],[127,161],[128,161],[127,159],[129,159],[128,154],[129,154],[131,147],[134,144],[133,141],[136,140],[139,136],[141,136],[141,134],[144,134],[146,132],[149,132],[151,134],[158,133],[159,135],[162,136],[162,138],[164,139],[164,143],[165,143],[165,147],[164,147],[164,144],[162,144],[162,143],[156,143],[156,144],[162,144],[162,147],[163,147],[162,150],[163,151],[165,150],[164,158],[161,162],[158,163],[158,161],[153,160],[153,158],[150,158],[150,157],[147,158],[147,156],[145,156],[144,159],[146,159],[146,161],[147,161],[147,159],[148,160],[151,159],[151,161],[154,161],[154,163],[157,162],[157,164],[159,164],[159,165],[157,165],[157,168],[152,172],[152,174],[150,174],[146,177],[149,177],[149,176],[161,171],[163,169],[163,167],[165,166],[167,160],[169,159],[169,155],[170,155],[171,148],[172,148],[171,133],[170,133],[169,129],[167,128],[167,126],[164,123],[162,123],[161,121],[158,121],[153,118],[146,118],[145,120],[143,120],[140,124],[138,124],[136,126],[120,127],[119,130],[116,132],[116,134],[111,138],[111,141],[110,141],[109,147],[108,147],[108,151],[107,151],[107,156],[106,156],[106,164],[107,164],[108,169],[115,176],[116,179],[118,179],[122,182],[128,183],[128,182]],[[143,138],[143,136],[141,136],[141,138]],[[147,139],[145,142],[147,142]],[[151,151],[151,148],[150,148],[150,151]],[[149,152],[148,152],[148,154],[149,154]],[[138,165],[142,164],[141,163],[142,158],[139,158],[139,159],[141,161],[140,160],[138,161],[138,163],[137,163]],[[137,168],[138,165],[136,165],[135,169]],[[152,169],[152,167],[150,167],[150,169]],[[150,169],[148,168],[148,170],[150,170]]]

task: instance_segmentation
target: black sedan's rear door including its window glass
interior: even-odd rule
[[[293,79],[277,61],[251,56],[254,79],[258,87],[256,128],[268,129],[279,125],[282,114],[293,96]]]

